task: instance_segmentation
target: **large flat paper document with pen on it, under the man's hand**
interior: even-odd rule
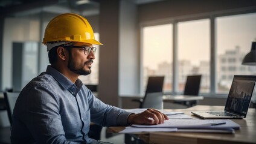
[[[239,129],[240,125],[230,119],[168,119],[164,124],[158,125],[138,125],[132,127],[139,128],[199,128],[199,129]]]

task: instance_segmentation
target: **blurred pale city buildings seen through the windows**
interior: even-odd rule
[[[256,74],[256,66],[251,67],[242,65],[242,59],[245,53],[240,51],[240,47],[234,47],[232,50],[226,50],[224,54],[217,57],[217,91],[228,92],[234,74]],[[223,61],[225,59],[225,61]],[[190,61],[178,61],[178,91],[182,91],[185,86],[185,80],[188,75],[202,74],[200,92],[210,91],[210,61],[200,61],[200,65],[193,65]],[[144,86],[146,85],[146,77],[153,75],[164,75],[164,90],[172,91],[173,82],[173,63],[161,62],[158,69],[153,70],[144,67]]]

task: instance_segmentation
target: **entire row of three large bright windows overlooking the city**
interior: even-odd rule
[[[234,74],[256,74],[255,66],[242,65],[244,56],[251,50],[252,41],[256,41],[256,13],[231,16],[210,14],[206,17],[213,17],[214,22],[198,17],[190,17],[187,21],[181,17],[181,22],[177,17],[170,24],[142,28],[144,86],[147,76],[166,74],[165,91],[182,93],[188,75],[202,74],[200,94],[226,95]],[[177,41],[172,39],[173,25],[177,25],[177,33],[174,34]],[[211,28],[215,30],[214,38],[210,37]],[[159,45],[163,43],[165,49]],[[214,44],[216,53],[210,53],[211,44]],[[174,49],[178,54],[174,59],[177,67],[173,67],[172,45],[177,46]],[[156,46],[161,50],[154,52]],[[173,79],[173,76],[178,77]],[[211,82],[213,79],[210,77],[215,82]]]

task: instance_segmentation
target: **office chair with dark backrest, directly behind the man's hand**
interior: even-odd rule
[[[144,98],[132,100],[139,102],[139,108],[163,109],[164,76],[150,76],[147,82],[147,88]]]

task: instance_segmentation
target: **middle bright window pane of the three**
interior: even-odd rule
[[[210,20],[178,23],[178,91],[188,75],[202,74],[200,93],[210,91]]]

